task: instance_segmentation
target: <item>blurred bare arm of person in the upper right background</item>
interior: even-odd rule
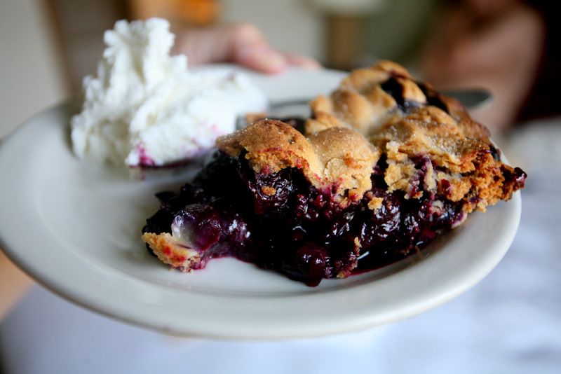
[[[517,0],[464,0],[438,17],[421,57],[424,79],[439,90],[487,88],[494,102],[473,117],[507,132],[534,83],[546,25]]]

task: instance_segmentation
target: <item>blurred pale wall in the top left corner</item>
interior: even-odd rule
[[[40,5],[36,0],[0,1],[0,138],[67,95]]]

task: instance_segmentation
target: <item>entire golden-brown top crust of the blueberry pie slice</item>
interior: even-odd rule
[[[496,159],[489,130],[457,99],[414,81],[394,62],[351,72],[310,106],[304,134],[261,120],[220,137],[217,146],[229,155],[245,153],[255,172],[302,169],[316,188],[336,186],[342,201],[361,198],[372,187],[381,157],[388,192],[403,191],[406,198],[439,194],[463,202],[466,212],[508,200],[523,186],[506,177],[514,169]]]

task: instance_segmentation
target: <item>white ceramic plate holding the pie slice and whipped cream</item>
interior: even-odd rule
[[[336,71],[252,74],[273,101],[327,93]],[[154,193],[185,176],[145,181],[72,154],[67,102],[40,113],[0,146],[0,247],[61,296],[158,331],[212,338],[300,338],[411,317],[471,288],[499,263],[520,218],[520,195],[473,214],[424,251],[381,270],[310,288],[221,258],[170,271],[140,240]]]

